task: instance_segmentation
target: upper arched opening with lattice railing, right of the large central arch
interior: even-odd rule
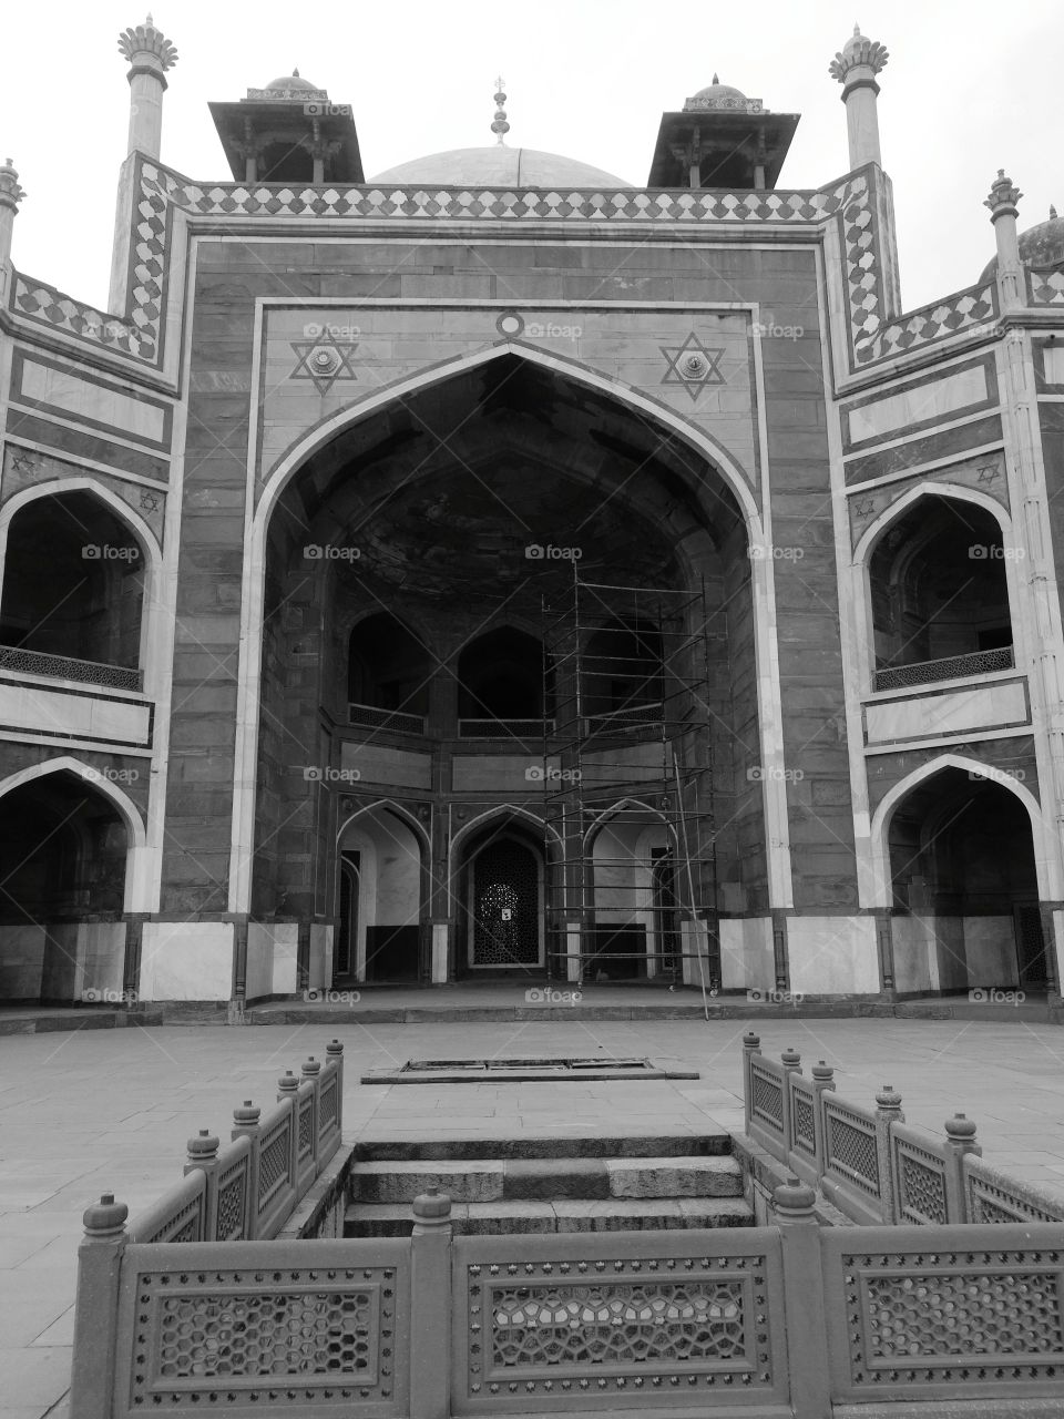
[[[880,536],[868,578],[875,688],[1009,670],[1002,529],[985,508],[925,497]]]

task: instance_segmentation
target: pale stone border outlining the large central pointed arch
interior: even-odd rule
[[[271,515],[287,488],[306,461],[345,429],[360,423],[392,403],[421,390],[441,385],[467,370],[492,360],[514,358],[539,365],[565,379],[593,389],[644,423],[660,426],[688,446],[692,453],[719,474],[735,498],[745,524],[748,545],[762,545],[769,529],[758,507],[755,492],[738,460],[711,434],[682,414],[658,403],[623,380],[603,375],[579,360],[514,341],[472,350],[375,390],[366,399],[339,410],[308,430],[291,444],[274,464],[257,498],[258,448],[255,440],[248,447],[248,481],[244,522],[244,576],[241,586],[241,656],[237,688],[237,735],[234,745],[234,795],[230,846],[228,907],[247,911],[251,902],[251,876],[255,832],[257,773],[255,755],[260,734],[260,704],[257,687],[262,664],[262,607],[265,595],[265,548]],[[750,592],[753,600],[755,658],[758,714],[762,731],[762,799],[767,824],[769,897],[775,907],[793,905],[790,850],[787,847],[787,805],[783,773],[783,711],[776,647],[776,596],[772,558],[750,559]]]

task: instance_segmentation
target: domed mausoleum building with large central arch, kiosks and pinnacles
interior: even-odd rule
[[[193,180],[121,51],[106,311],[0,167],[0,995],[1055,996],[1064,221],[905,311],[860,31],[816,190],[716,78],[645,183],[298,74]]]

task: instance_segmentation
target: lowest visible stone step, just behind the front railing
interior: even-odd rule
[[[345,1237],[404,1237],[413,1230],[409,1203],[349,1203]],[[741,1198],[610,1198],[559,1202],[457,1202],[455,1236],[508,1236],[515,1232],[658,1232],[697,1227],[752,1227]]]

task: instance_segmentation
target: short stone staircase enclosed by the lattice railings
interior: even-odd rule
[[[455,1235],[749,1227],[728,1134],[360,1142],[345,1237],[410,1236],[414,1198],[451,1198]]]

